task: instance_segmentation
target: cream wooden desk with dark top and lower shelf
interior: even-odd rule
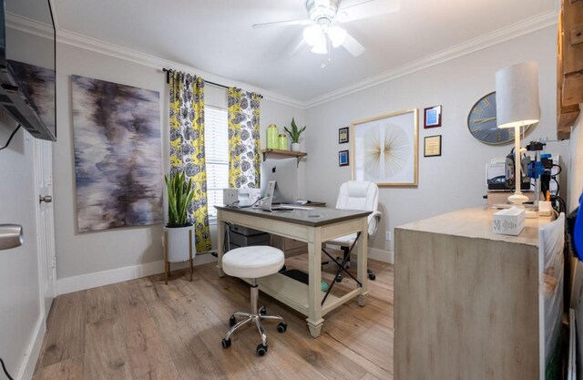
[[[261,292],[285,303],[292,309],[306,315],[310,334],[318,337],[324,322],[322,316],[343,303],[357,297],[358,304],[364,306],[368,297],[366,261],[367,261],[367,216],[370,211],[347,211],[319,208],[316,210],[261,211],[255,209],[231,209],[217,207],[219,254],[217,268],[222,272],[223,237],[225,222],[266,231],[286,238],[308,243],[309,285],[295,281],[281,273],[258,279]],[[315,216],[317,215],[317,216]],[[358,281],[363,285],[341,297],[328,295],[322,305],[324,293],[322,281],[322,241],[330,241],[339,236],[361,232],[357,247]]]

